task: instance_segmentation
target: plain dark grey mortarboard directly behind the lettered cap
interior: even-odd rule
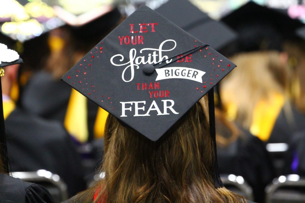
[[[221,21],[211,19],[188,0],[169,0],[156,12],[215,49],[234,41],[237,34]]]

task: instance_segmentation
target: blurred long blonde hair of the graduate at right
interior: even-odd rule
[[[291,73],[282,63],[278,51],[239,53],[231,57],[235,68],[221,82],[221,98],[224,106],[232,107],[231,119],[244,128],[252,124],[253,111],[261,100],[271,100],[274,94],[287,95]]]

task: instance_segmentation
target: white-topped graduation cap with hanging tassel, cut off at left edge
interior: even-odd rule
[[[5,136],[5,127],[4,127],[4,116],[3,116],[3,102],[2,102],[2,86],[1,86],[1,77],[4,75],[4,70],[2,67],[20,64],[22,59],[19,57],[18,53],[14,50],[8,49],[5,44],[0,43],[0,149],[1,156],[3,159],[3,166],[6,173],[9,172],[8,167],[8,157],[7,157],[7,148],[6,148],[6,136]]]

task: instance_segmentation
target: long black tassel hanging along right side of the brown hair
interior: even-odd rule
[[[210,135],[213,141],[214,157],[213,157],[213,179],[215,188],[224,187],[221,181],[217,161],[217,148],[216,148],[216,130],[215,130],[215,105],[214,105],[214,89],[208,92],[209,97],[209,120],[210,120]]]

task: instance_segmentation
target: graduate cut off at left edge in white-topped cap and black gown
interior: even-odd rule
[[[9,164],[6,146],[5,124],[3,117],[2,99],[5,103],[9,102],[9,86],[17,79],[19,64],[22,59],[19,54],[8,49],[5,44],[0,43],[0,196],[4,202],[47,202],[52,203],[49,192],[40,185],[24,182],[18,178],[8,175]],[[4,68],[3,68],[4,67]],[[3,86],[3,91],[2,87]],[[13,103],[11,103],[13,105]],[[7,116],[5,109],[5,116]],[[10,147],[9,147],[10,148]]]

